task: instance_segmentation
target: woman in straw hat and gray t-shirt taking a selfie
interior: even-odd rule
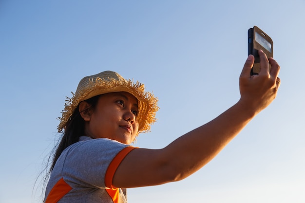
[[[280,67],[259,55],[261,71],[252,76],[254,57],[248,56],[234,106],[162,149],[130,145],[150,129],[158,110],[144,85],[110,71],[83,78],[60,118],[63,137],[45,203],[126,203],[125,188],[179,181],[203,167],[275,98]]]

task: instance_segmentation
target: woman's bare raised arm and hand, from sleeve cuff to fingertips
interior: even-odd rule
[[[173,141],[166,148],[131,151],[117,168],[115,187],[160,185],[182,180],[214,158],[260,111],[276,97],[280,66],[259,51],[261,71],[250,76],[249,55],[240,75],[240,100],[209,123]],[[269,63],[271,69],[269,71]]]

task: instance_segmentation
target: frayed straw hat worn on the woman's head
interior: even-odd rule
[[[151,124],[156,121],[156,111],[159,109],[157,106],[158,99],[151,92],[145,92],[144,84],[138,81],[133,83],[132,80],[126,80],[121,75],[112,71],[104,71],[81,79],[76,93],[72,92],[73,97],[66,97],[62,117],[58,118],[60,120],[57,128],[58,132],[65,130],[67,121],[81,101],[110,92],[131,93],[138,100],[139,113],[137,121],[139,123],[139,132],[146,132],[151,129]]]

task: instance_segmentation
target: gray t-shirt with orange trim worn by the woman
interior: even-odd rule
[[[80,137],[58,158],[45,203],[127,203],[126,189],[113,188],[114,172],[134,147],[107,138]]]

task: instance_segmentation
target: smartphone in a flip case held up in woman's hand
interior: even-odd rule
[[[248,55],[254,55],[254,65],[251,75],[258,74],[260,68],[260,57],[258,50],[263,50],[268,58],[273,57],[273,41],[264,31],[257,26],[248,29]]]

